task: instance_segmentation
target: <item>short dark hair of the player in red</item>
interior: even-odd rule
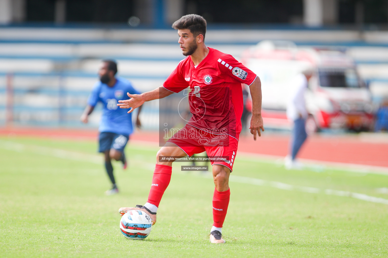
[[[203,39],[205,39],[206,20],[200,15],[184,15],[180,17],[178,21],[175,21],[171,27],[173,27],[173,29],[189,29],[194,37],[202,34]]]

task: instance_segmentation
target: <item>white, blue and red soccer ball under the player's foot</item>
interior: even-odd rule
[[[141,210],[128,210],[121,217],[120,230],[128,239],[144,239],[151,232],[152,221]]]

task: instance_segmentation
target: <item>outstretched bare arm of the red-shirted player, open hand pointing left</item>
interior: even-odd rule
[[[161,99],[173,93],[174,92],[165,89],[165,87],[159,87],[153,91],[144,92],[142,94],[129,94],[129,92],[127,92],[127,95],[130,97],[130,99],[119,100],[119,104],[117,104],[117,106],[120,108],[131,108],[128,111],[128,113],[131,113],[133,110],[135,110],[135,108],[139,108],[146,101]]]

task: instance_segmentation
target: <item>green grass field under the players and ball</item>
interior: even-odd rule
[[[325,194],[388,199],[376,190],[388,187],[388,175],[286,171],[237,153],[227,243],[215,245],[210,174],[177,163],[158,223],[136,241],[121,234],[117,211],[146,202],[158,147],[128,145],[129,169],[114,164],[114,196],[104,195],[110,185],[96,149],[91,141],[0,137],[0,257],[388,257],[388,205]]]

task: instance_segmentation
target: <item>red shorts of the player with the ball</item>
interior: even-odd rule
[[[238,140],[230,135],[215,135],[186,125],[175,133],[167,142],[177,145],[189,157],[204,151],[206,151],[210,158],[224,156],[224,160],[210,160],[210,164],[212,166],[214,164],[220,164],[228,167],[230,171],[233,170]]]

